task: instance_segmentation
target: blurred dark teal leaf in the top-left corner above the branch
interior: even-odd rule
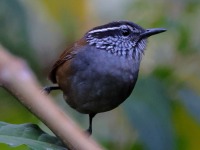
[[[32,69],[40,65],[30,44],[27,11],[20,1],[0,0],[0,43],[25,58]]]

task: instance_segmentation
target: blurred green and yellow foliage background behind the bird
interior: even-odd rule
[[[93,137],[111,150],[198,150],[199,0],[0,0],[0,43],[27,61],[41,85],[49,85],[48,71],[65,47],[114,20],[168,31],[149,39],[135,90],[120,107],[95,117]],[[52,95],[87,128],[87,115],[69,108],[61,92]],[[0,120],[47,130],[2,88]]]

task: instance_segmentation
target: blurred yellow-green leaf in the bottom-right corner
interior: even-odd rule
[[[196,150],[200,147],[200,126],[185,106],[176,101],[173,106],[174,130],[178,150]]]

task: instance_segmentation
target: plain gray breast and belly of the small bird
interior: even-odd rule
[[[139,64],[102,50],[85,50],[73,60],[73,76],[64,97],[81,113],[109,111],[132,92]]]

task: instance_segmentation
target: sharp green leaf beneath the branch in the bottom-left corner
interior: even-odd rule
[[[0,142],[17,147],[27,145],[37,150],[66,150],[62,142],[43,132],[35,124],[8,124],[0,122]]]

